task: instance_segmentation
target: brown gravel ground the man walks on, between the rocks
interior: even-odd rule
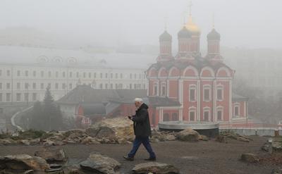
[[[238,142],[231,140],[228,144],[222,144],[210,140],[209,142],[159,142],[153,143],[152,147],[157,154],[157,161],[171,163],[180,168],[181,173],[187,174],[270,174],[271,170],[278,168],[264,163],[243,163],[240,155],[243,153],[254,153],[265,156],[266,152],[260,150],[266,142],[266,137],[252,137],[252,142]],[[147,152],[140,147],[135,161],[124,161],[123,155],[130,151],[131,144],[97,144],[97,145],[64,145],[62,147],[70,159],[86,159],[92,151],[99,151],[119,161],[121,173],[130,173],[137,163],[144,163]],[[34,154],[39,146],[0,146],[0,155],[8,154]]]

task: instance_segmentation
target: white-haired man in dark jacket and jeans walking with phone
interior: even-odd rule
[[[148,106],[143,103],[142,99],[135,99],[135,106],[137,108],[135,116],[128,116],[130,120],[133,120],[133,128],[135,139],[133,142],[133,149],[127,156],[123,156],[128,161],[133,161],[134,156],[141,144],[146,148],[149,153],[149,159],[147,161],[156,161],[156,155],[149,144],[149,136],[151,136],[151,125],[149,123],[149,113],[147,111]]]

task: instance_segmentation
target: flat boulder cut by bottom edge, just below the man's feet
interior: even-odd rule
[[[133,168],[133,173],[135,174],[147,174],[147,173],[158,173],[158,174],[178,174],[179,169],[175,166],[166,163],[140,163]]]

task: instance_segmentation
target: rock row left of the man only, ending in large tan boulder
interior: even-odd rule
[[[32,134],[37,132],[35,130],[26,132],[29,133],[20,132],[18,136],[0,137],[0,145],[42,144],[44,147],[51,147],[63,144],[128,144],[134,139],[133,122],[125,118],[105,119],[87,130],[51,131],[36,133],[36,136]]]

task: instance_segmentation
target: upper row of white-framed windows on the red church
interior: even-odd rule
[[[204,86],[203,89],[204,95],[203,95],[203,100],[204,101],[211,101],[211,87]],[[154,89],[153,89],[153,95],[158,96],[158,84],[154,84]],[[166,96],[166,82],[161,83],[161,93],[160,96],[165,97]],[[217,86],[216,87],[216,99],[219,101],[223,100],[223,87]],[[189,87],[189,101],[197,101],[197,88],[196,85],[190,85]]]

